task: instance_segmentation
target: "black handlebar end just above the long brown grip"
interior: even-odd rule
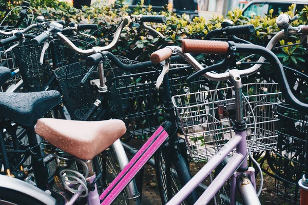
[[[216,35],[236,35],[236,34],[251,34],[255,32],[255,27],[253,25],[239,25],[239,26],[228,26],[226,28],[215,29],[207,33],[204,40],[209,40]]]

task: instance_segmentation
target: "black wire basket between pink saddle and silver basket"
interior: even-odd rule
[[[208,89],[207,80],[200,78],[188,86],[186,78],[193,72],[191,67],[169,70],[172,95],[197,92]],[[165,118],[160,92],[156,90],[159,72],[148,72],[114,77],[110,89],[114,96],[113,117],[124,120],[130,135],[147,137],[161,125]],[[163,85],[160,87],[160,91]]]

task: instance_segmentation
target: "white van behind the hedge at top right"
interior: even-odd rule
[[[252,1],[243,8],[243,16],[250,18],[252,15],[260,15],[261,17],[268,14],[268,11],[274,9],[273,16],[278,16],[280,12],[287,12],[288,7],[295,4],[295,10],[301,11],[304,5],[308,6],[308,1],[301,0],[267,0],[267,1]]]

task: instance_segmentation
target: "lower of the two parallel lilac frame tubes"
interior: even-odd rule
[[[223,186],[225,181],[233,174],[234,170],[239,166],[244,156],[235,153],[226,166],[221,170],[217,177],[210,183],[208,188],[196,201],[196,205],[207,204],[211,198],[215,196],[218,190]]]

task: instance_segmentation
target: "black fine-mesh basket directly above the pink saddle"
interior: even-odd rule
[[[121,60],[128,61],[123,58]],[[110,79],[118,75],[125,75],[127,72],[118,68],[113,68],[108,61],[106,64],[107,65],[104,66],[105,77],[107,78],[106,85],[110,88]],[[54,71],[61,88],[66,107],[71,115],[71,118],[75,120],[81,120],[89,112],[89,109],[94,101],[99,97],[97,92],[98,88],[90,83],[91,80],[99,79],[97,68],[94,69],[88,78],[87,83],[81,86],[81,80],[89,69],[90,68],[85,65],[85,61],[80,61],[78,63],[63,66]],[[111,93],[113,92],[111,91]],[[111,97],[109,104],[111,111],[115,111],[117,108],[113,106],[114,98],[112,98],[112,95],[113,94],[109,95]],[[99,112],[99,110],[97,112]]]

